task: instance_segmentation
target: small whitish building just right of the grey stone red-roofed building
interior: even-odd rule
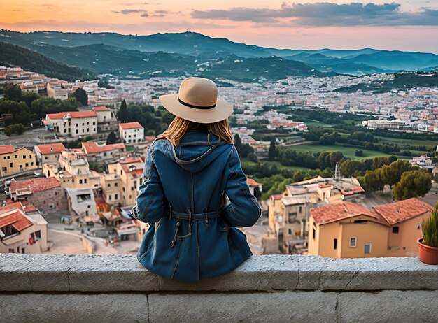
[[[94,192],[89,188],[66,188],[69,210],[73,221],[85,224],[99,221]]]

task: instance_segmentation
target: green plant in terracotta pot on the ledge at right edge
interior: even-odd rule
[[[425,264],[438,264],[438,203],[430,217],[421,224],[423,238],[417,240],[418,257]]]

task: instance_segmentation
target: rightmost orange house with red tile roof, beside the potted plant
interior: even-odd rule
[[[416,240],[423,236],[421,223],[430,216],[433,208],[419,199],[407,199],[374,210],[389,224],[388,257],[409,257],[418,255]]]

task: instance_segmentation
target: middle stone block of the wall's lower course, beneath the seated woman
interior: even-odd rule
[[[150,322],[335,322],[336,293],[150,294]]]

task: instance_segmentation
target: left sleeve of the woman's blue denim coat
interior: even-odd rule
[[[146,154],[143,184],[139,190],[136,206],[132,208],[132,217],[142,222],[158,222],[164,214],[164,192],[153,161],[153,145]]]

